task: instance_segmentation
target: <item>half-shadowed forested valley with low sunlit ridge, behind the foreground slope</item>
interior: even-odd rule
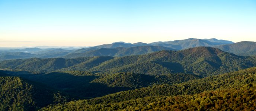
[[[86,71],[64,71],[48,74],[22,74],[10,72],[9,76],[19,76],[43,83],[76,98],[88,99],[148,87],[157,84],[176,84],[198,79],[194,74],[145,75],[135,73],[93,74]],[[95,88],[97,87],[97,88]]]

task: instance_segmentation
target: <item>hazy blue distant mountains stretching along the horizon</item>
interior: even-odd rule
[[[112,44],[103,44],[100,46],[86,47],[74,50],[72,48],[22,48],[22,49],[9,49],[0,50],[0,60],[8,59],[24,59],[24,58],[76,58],[76,57],[92,57],[92,56],[112,56],[121,57],[128,55],[140,55],[148,54],[161,50],[184,50],[192,47],[221,47],[223,45],[236,44],[232,41],[217,40],[215,38],[211,39],[196,39],[189,38],[185,40],[175,40],[166,42],[154,42],[154,43],[124,43],[115,42]],[[252,45],[252,44],[248,44]],[[238,45],[239,46],[239,45]],[[46,46],[45,46],[46,47]],[[241,48],[241,47],[240,47]],[[70,50],[72,49],[72,50]],[[224,50],[224,48],[221,48]],[[234,51],[227,51],[231,53],[236,53],[236,48],[232,49]],[[243,50],[243,48],[241,48]],[[246,49],[245,49],[246,50]],[[226,51],[226,50],[224,50]],[[19,53],[17,53],[19,52]],[[24,53],[28,53],[27,55]],[[246,53],[246,54],[244,54]],[[239,55],[253,55],[252,52],[241,52]]]

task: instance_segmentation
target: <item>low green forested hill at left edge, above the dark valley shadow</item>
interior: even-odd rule
[[[1,61],[1,68],[10,68],[16,70],[25,70],[33,72],[47,72],[54,71],[60,68],[71,67],[73,65],[82,63],[83,61],[89,60],[90,58],[76,58],[76,59],[65,59],[65,58],[29,58],[29,59],[17,59],[17,60],[4,60]]]

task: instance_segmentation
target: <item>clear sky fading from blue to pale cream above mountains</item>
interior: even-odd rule
[[[0,47],[256,41],[256,0],[0,0]]]

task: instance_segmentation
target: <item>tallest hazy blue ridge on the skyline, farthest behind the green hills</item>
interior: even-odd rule
[[[137,47],[137,46],[162,46],[162,47],[167,47],[170,48],[171,50],[182,50],[182,49],[187,49],[187,48],[192,48],[192,47],[199,47],[199,46],[216,46],[216,45],[221,45],[221,44],[232,44],[232,41],[226,41],[226,40],[217,40],[215,38],[211,39],[196,39],[196,38],[189,38],[185,40],[175,40],[175,41],[166,41],[166,42],[154,42],[154,43],[124,43],[124,42],[115,42],[112,44],[103,44],[100,46],[94,46],[90,48],[82,48],[75,50],[71,53],[85,53],[87,51],[92,51],[92,50],[97,50],[100,48],[117,48],[117,47]]]

